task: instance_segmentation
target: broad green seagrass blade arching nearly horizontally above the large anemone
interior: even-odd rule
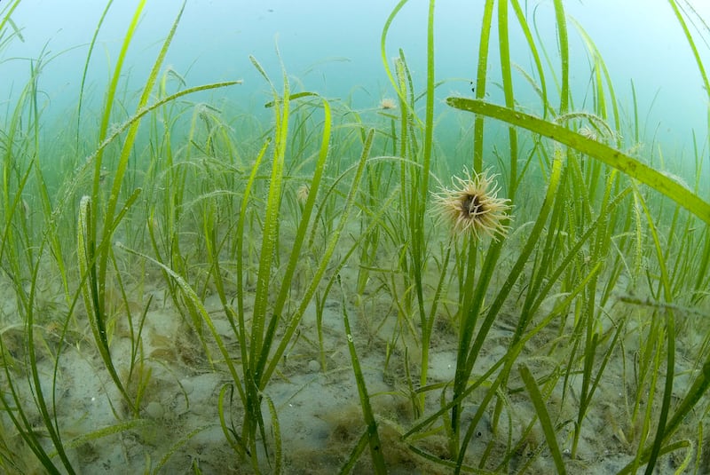
[[[635,158],[611,148],[611,146],[588,139],[556,123],[542,120],[509,107],[496,106],[483,100],[450,97],[446,99],[446,104],[457,109],[485,115],[510,125],[522,127],[566,146],[571,146],[575,150],[588,154],[592,158],[625,173],[627,176],[637,179],[644,185],[651,186],[654,190],[665,194],[668,198],[710,225],[710,203],[692,193],[685,186],[675,182],[672,178],[668,178],[660,171],[652,169],[645,163],[639,162]]]

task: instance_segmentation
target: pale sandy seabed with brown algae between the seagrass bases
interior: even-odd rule
[[[356,279],[355,272],[343,270],[343,286],[346,289],[354,289]],[[164,284],[158,273],[155,273],[154,278],[148,276],[146,281],[154,282],[152,288],[146,285],[141,298],[145,302],[149,295],[153,296],[142,333],[142,351],[145,355],[143,370],[150,370],[150,378],[141,403],[141,418],[135,421],[134,426],[88,441],[81,439],[91,431],[117,424],[114,414],[126,416],[123,420],[130,420],[130,417],[126,415],[121,397],[103,367],[88,322],[83,334],[70,331],[65,338],[67,344],[60,357],[55,394],[57,421],[65,443],[70,447],[68,454],[71,462],[81,473],[143,472],[147,467],[156,467],[158,464],[162,465],[162,473],[193,473],[193,465],[199,467],[202,473],[251,472],[248,461],[241,461],[227,443],[219,422],[219,393],[225,384],[230,384],[231,377],[224,370],[224,364],[219,362],[217,346],[209,344],[209,355],[205,352],[188,324],[189,317],[178,312],[167,289],[161,287]],[[264,396],[272,400],[278,414],[282,468],[286,473],[330,474],[339,471],[365,431],[343,326],[343,299],[333,295],[330,297],[322,319],[323,353],[319,350],[316,312],[312,303],[301,321],[296,343],[289,346],[287,357],[280,363],[277,373],[264,390]],[[253,295],[247,297],[247,313],[251,311],[249,298],[253,300]],[[624,304],[619,303],[618,299],[612,300],[609,312],[624,311]],[[414,454],[399,437],[414,424],[406,384],[405,361],[406,358],[410,361],[410,374],[416,381],[421,349],[411,336],[407,336],[406,324],[398,321],[391,297],[380,292],[377,296],[355,296],[346,301],[353,326],[352,337],[378,419],[383,455],[390,473],[450,472],[441,464],[431,463]],[[239,354],[232,327],[217,295],[207,297],[204,305],[228,350],[232,354]],[[139,309],[140,305],[133,309],[136,315],[140,314]],[[120,308],[116,312],[121,315]],[[136,315],[134,320],[137,320]],[[77,313],[77,319],[85,318],[83,310]],[[484,373],[505,356],[515,325],[514,309],[501,313],[486,338],[474,375]],[[51,344],[58,329],[51,329],[49,325],[41,329],[44,341]],[[556,353],[548,354],[548,349],[559,331],[558,325],[551,324],[526,345],[518,360],[525,362],[533,374],[548,375],[558,364]],[[7,351],[12,353],[12,341],[16,341],[17,354],[13,356],[18,360],[22,358],[20,348],[23,333],[24,327],[21,325],[8,326],[3,332]],[[638,348],[638,333],[634,321],[628,320],[623,345],[626,361],[617,349],[605,368],[603,381],[596,390],[594,402],[584,422],[576,460],[569,457],[572,440],[570,431],[572,421],[577,416],[581,376],[571,378],[564,402],[561,391],[563,379],[559,380],[548,399],[548,411],[553,423],[563,427],[558,432],[558,441],[570,473],[616,473],[633,459],[635,444],[624,436],[630,430],[628,424],[623,422],[628,419],[625,409],[628,401],[625,400],[624,391],[630,393],[627,389],[629,383],[624,381],[624,365],[629,364],[629,359],[633,358]],[[391,344],[392,335],[397,334],[400,335],[398,342]],[[131,346],[130,329],[125,318],[119,316],[116,319],[112,338],[111,352],[115,366],[125,370],[122,368],[128,367],[131,352],[136,351]],[[58,340],[54,338],[53,341],[56,344]],[[207,337],[207,341],[212,342],[211,336]],[[406,357],[403,342],[407,342]],[[388,344],[391,351],[385,366]],[[429,384],[446,383],[454,379],[457,344],[458,336],[454,326],[445,317],[440,318],[435,324],[430,345]],[[43,376],[43,392],[47,398],[51,394],[54,363],[48,353],[41,346],[38,347],[37,366]],[[679,344],[679,347],[682,345]],[[677,359],[680,361],[679,368],[676,368],[679,398],[689,387],[692,381],[690,375],[693,374],[691,361],[682,358],[682,348],[680,355],[681,358]],[[214,365],[209,363],[210,356],[215,361]],[[21,397],[27,400],[27,407],[34,407],[33,395],[27,384],[23,382],[19,387],[24,392]],[[510,458],[509,471],[505,473],[517,473],[524,467],[525,473],[554,472],[555,466],[548,449],[544,447],[545,438],[539,424],[533,424],[533,430],[527,436],[521,435],[534,420],[535,411],[515,369],[511,373],[508,388],[507,409],[503,411],[498,430],[492,431],[491,405],[469,444],[467,463],[477,466],[477,461],[487,453],[487,462],[482,468],[493,471],[497,463],[509,453],[508,438],[511,435],[516,449],[515,455]],[[230,393],[226,391],[225,405],[230,404]],[[441,390],[429,392],[426,414],[438,409],[440,393]],[[481,399],[482,393],[474,392],[466,400],[463,424],[470,421]],[[231,410],[226,409],[225,414],[231,417],[229,424],[240,431],[243,413],[236,391],[232,392],[231,400]],[[265,402],[263,411],[269,429],[267,447],[273,451],[272,423]],[[40,426],[39,416],[32,416],[36,416],[36,424]],[[5,428],[12,427],[9,420],[3,421],[3,424]],[[440,420],[436,424],[440,424]],[[464,430],[466,427],[464,425]],[[520,440],[522,442],[518,443]],[[443,432],[409,442],[442,458],[448,454]],[[25,449],[27,456],[32,457],[28,448]],[[263,447],[259,446],[259,450],[263,450]],[[687,455],[678,452],[662,457],[655,472],[675,473]],[[259,457],[266,460],[264,453],[259,454]],[[59,464],[59,458],[54,460]],[[263,468],[264,472],[271,470],[265,462]],[[354,472],[371,471],[370,455],[366,449]],[[41,468],[37,462],[28,463],[28,472],[41,472]]]

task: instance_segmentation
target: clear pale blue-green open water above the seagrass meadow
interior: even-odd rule
[[[87,99],[101,99],[106,78],[122,44],[136,2],[114,2],[99,32],[97,53],[90,64]],[[327,98],[351,100],[354,108],[376,107],[379,99],[391,95],[383,70],[380,48],[382,28],[395,2],[291,1],[206,1],[191,0],[185,6],[177,36],[170,47],[166,64],[171,65],[188,84],[195,85],[243,79],[230,91],[220,91],[245,108],[262,112],[263,78],[248,60],[253,55],[277,81],[281,59],[291,78],[303,89],[317,91]],[[477,42],[483,11],[482,1],[441,1],[436,4],[436,77],[443,81],[439,97],[469,93],[475,78]],[[103,2],[73,0],[68,3],[29,0],[13,15],[24,42],[13,41],[4,51],[0,99],[16,97],[28,77],[28,59],[51,59],[44,69],[40,88],[47,107],[45,119],[64,115],[75,106],[84,60],[101,12]],[[175,19],[179,3],[168,0],[146,2],[135,41],[130,46],[127,64],[130,85],[136,88],[145,79],[161,40]],[[662,0],[616,2],[566,2],[572,50],[572,91],[576,98],[590,97],[589,57],[575,22],[587,31],[602,54],[621,105],[628,119],[632,110],[631,81],[634,81],[638,110],[642,115],[645,142],[656,141],[664,150],[673,170],[683,157],[691,160],[690,131],[706,130],[707,94],[698,67],[675,20],[669,4]],[[698,13],[707,18],[707,5],[695,2]],[[558,68],[556,31],[552,4],[523,3],[522,8],[535,19],[541,43],[548,45],[547,67]],[[686,7],[688,8],[688,7]],[[392,24],[385,56],[392,59],[401,48],[406,54],[415,84],[421,90],[425,74],[427,3],[412,0]],[[510,9],[511,18],[514,12]],[[510,22],[512,60],[533,72],[527,46]],[[690,26],[690,28],[693,28]],[[697,25],[705,31],[703,25]],[[493,32],[493,42],[495,31]],[[494,44],[494,43],[493,43]],[[707,58],[706,50],[700,51]],[[543,59],[545,60],[545,59]],[[493,71],[488,93],[501,102],[495,71],[499,62],[490,55]],[[522,75],[515,75],[517,100],[537,108],[539,100],[527,87]],[[417,87],[417,86],[415,86]],[[548,85],[554,95],[555,84]],[[551,100],[551,102],[555,102]],[[96,105],[97,102],[94,102]],[[592,104],[574,104],[589,110]],[[442,110],[445,107],[441,107]],[[440,130],[453,126],[446,116],[439,119]],[[657,151],[656,151],[657,152]],[[674,170],[680,173],[680,170]],[[687,171],[687,170],[686,170]],[[686,178],[690,178],[687,177]]]

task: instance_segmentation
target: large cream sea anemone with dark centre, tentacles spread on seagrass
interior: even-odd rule
[[[494,181],[495,175],[488,170],[473,175],[467,169],[463,172],[464,178],[452,179],[452,188],[442,186],[434,194],[434,210],[451,222],[455,234],[473,234],[476,238],[485,234],[493,239],[505,235],[510,200],[498,197],[501,187]]]

